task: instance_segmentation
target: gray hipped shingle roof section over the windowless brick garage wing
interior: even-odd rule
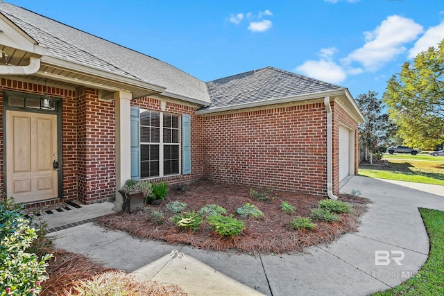
[[[211,105],[202,110],[344,89],[339,85],[273,67],[207,82],[207,87]]]

